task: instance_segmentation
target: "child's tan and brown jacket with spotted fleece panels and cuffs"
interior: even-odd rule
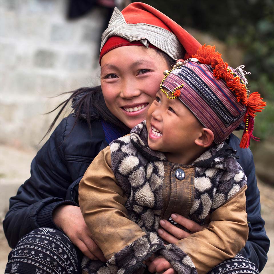
[[[178,273],[207,273],[234,257],[248,236],[246,177],[225,143],[204,152],[192,165],[168,162],[148,147],[146,121],[114,140],[87,169],[79,186],[84,219],[107,263],[82,260],[83,273],[142,273],[153,253]],[[185,172],[178,180],[175,171]],[[160,219],[178,213],[202,231],[164,245]]]

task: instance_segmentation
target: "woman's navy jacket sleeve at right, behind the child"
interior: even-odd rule
[[[253,155],[250,149],[239,147],[240,140],[231,134],[229,145],[237,150],[238,162],[247,177],[246,211],[249,225],[249,235],[245,247],[239,252],[255,263],[261,272],[267,262],[269,238],[265,232],[265,221],[261,217],[260,192],[257,187]]]

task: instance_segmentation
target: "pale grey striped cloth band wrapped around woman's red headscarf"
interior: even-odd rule
[[[114,8],[108,28],[102,34],[100,52],[106,41],[112,36],[122,37],[129,42],[140,41],[146,47],[150,43],[174,60],[184,56],[184,49],[172,32],[146,23],[127,24],[122,13],[117,8]]]

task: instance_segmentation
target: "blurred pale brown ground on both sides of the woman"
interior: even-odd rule
[[[35,155],[34,150],[19,150],[1,145],[1,221],[8,206],[8,197],[10,191],[15,191],[18,184],[23,183],[29,174],[29,165]],[[7,175],[9,174],[9,175]],[[268,252],[268,261],[261,273],[274,274],[274,188],[258,180],[258,187],[261,193],[261,213],[265,220],[265,229],[270,238],[270,249]],[[0,274],[4,273],[7,257],[10,251],[7,244],[3,227],[0,227]]]

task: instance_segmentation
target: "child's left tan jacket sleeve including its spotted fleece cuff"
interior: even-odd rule
[[[112,273],[118,269],[133,273],[144,267],[143,260],[164,246],[156,233],[143,232],[129,219],[126,201],[127,197],[111,170],[110,149],[107,147],[92,161],[80,182],[79,204]]]

